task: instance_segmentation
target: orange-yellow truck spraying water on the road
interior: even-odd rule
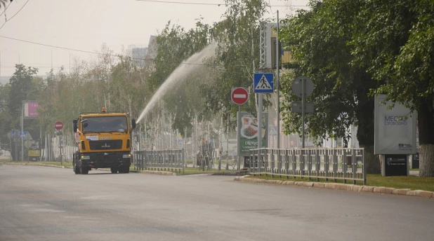
[[[136,121],[127,113],[105,111],[80,113],[72,121],[78,150],[73,155],[75,174],[108,168],[112,173],[129,173],[131,132]]]

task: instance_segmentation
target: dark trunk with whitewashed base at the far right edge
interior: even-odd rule
[[[433,97],[421,101],[418,110],[419,177],[434,177],[434,111]]]

